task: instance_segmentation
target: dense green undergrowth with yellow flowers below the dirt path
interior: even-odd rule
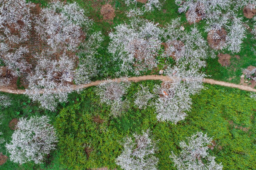
[[[72,93],[69,102],[59,105],[54,113],[38,109],[37,104],[28,103],[23,95],[9,94],[13,104],[2,110],[4,122],[0,125],[8,142],[13,132],[8,127],[12,118],[38,114],[51,117],[59,134],[59,142],[57,150],[46,158],[44,164],[17,165],[8,160],[1,169],[119,169],[114,160],[122,151],[120,142],[123,137],[147,129],[152,131],[155,140],[159,140],[156,154],[159,158],[158,169],[175,169],[169,158],[171,151],[179,153],[179,142],[197,131],[214,136],[217,145],[210,152],[216,156],[217,162],[222,162],[224,170],[256,168],[256,102],[250,98],[249,92],[205,85],[201,94],[192,97],[192,109],[186,119],[174,125],[158,122],[153,107],[140,110],[134,105],[133,96],[141,83],[153,88],[161,82],[132,83],[125,96],[130,102],[130,109],[117,118],[109,116],[109,106],[100,104],[95,87],[86,88],[81,94]],[[3,145],[0,152],[6,153]]]

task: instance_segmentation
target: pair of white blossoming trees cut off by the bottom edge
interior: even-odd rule
[[[154,141],[149,130],[133,137],[124,139],[123,151],[116,158],[116,164],[124,170],[157,170],[158,158],[154,154],[158,141]],[[186,141],[181,141],[180,154],[172,151],[170,158],[178,170],[222,170],[221,163],[216,163],[215,157],[208,152],[208,145],[211,144],[212,137],[197,132],[187,137]]]

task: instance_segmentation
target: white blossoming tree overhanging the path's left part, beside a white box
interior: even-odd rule
[[[67,95],[73,91],[67,78],[72,78],[75,63],[66,54],[62,54],[58,60],[42,56],[38,57],[34,72],[28,76],[26,94],[34,101],[39,101],[42,107],[55,110],[58,102],[66,102]]]

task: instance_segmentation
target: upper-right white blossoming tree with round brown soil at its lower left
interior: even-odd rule
[[[208,42],[213,49],[227,48],[232,53],[240,51],[241,43],[246,38],[246,28],[243,26],[241,17],[237,17],[233,12],[217,13],[212,19],[208,19],[206,24]]]

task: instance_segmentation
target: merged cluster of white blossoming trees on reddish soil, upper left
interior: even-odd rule
[[[76,3],[54,1],[41,9],[25,0],[1,1],[0,59],[7,71],[0,86],[23,74],[27,95],[54,110],[73,91],[70,79],[90,82],[97,74],[94,54],[103,39],[100,33],[87,34],[92,21],[84,13]]]

